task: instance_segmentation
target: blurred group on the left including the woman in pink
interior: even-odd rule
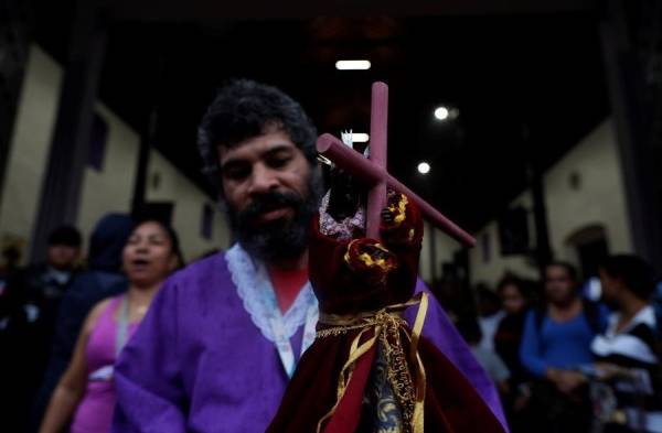
[[[83,257],[74,227],[49,237],[45,260],[0,272],[0,431],[109,425],[113,365],[164,279],[183,264],[175,232],[110,214]],[[6,252],[6,257],[8,252]]]

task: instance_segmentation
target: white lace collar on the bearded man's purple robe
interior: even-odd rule
[[[309,307],[314,305],[317,312],[317,299],[310,282],[301,289],[287,313],[281,314],[267,269],[263,263],[250,258],[239,243],[235,243],[227,250],[225,261],[232,281],[237,288],[237,294],[244,302],[244,308],[250,315],[255,326],[269,342],[276,340],[270,325],[271,317],[280,317],[285,336],[291,338],[297,329],[306,323]],[[316,322],[317,318],[316,313]]]

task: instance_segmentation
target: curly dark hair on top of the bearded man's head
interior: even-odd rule
[[[203,172],[210,181],[220,186],[218,145],[233,148],[273,126],[286,131],[314,163],[317,130],[296,100],[276,87],[250,79],[235,79],[221,88],[197,128]]]

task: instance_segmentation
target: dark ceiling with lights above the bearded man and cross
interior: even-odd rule
[[[178,20],[168,7],[151,20],[145,8],[130,17],[125,6],[110,26],[100,98],[139,131],[156,105],[154,145],[207,187],[195,129],[226,79],[281,87],[320,132],[337,134],[369,130],[371,83],[384,80],[389,171],[476,229],[526,186],[527,160],[553,164],[609,113],[597,15],[557,3],[516,13],[384,15],[373,8],[364,17],[227,21],[185,10]],[[66,26],[50,22],[38,41],[63,58]],[[341,58],[369,58],[373,67],[338,72]],[[441,104],[459,118],[435,121]],[[427,176],[416,172],[421,160],[433,167]]]

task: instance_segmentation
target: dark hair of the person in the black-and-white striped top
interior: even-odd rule
[[[610,256],[602,261],[600,269],[609,277],[621,280],[640,300],[648,301],[655,290],[653,269],[638,256]]]

